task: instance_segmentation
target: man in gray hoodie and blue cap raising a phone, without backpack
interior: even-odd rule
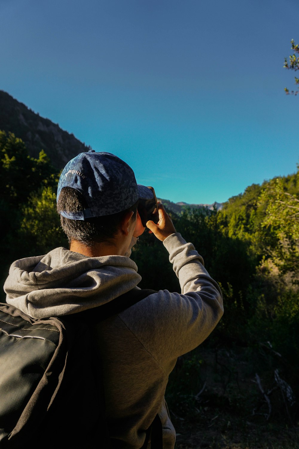
[[[91,150],[72,159],[57,192],[70,250],[15,262],[4,286],[7,303],[35,318],[63,316],[138,289],[141,278],[127,255],[145,229],[139,198],[152,198],[152,192],[136,184],[132,169],[117,156]],[[220,288],[201,256],[176,232],[163,206],[159,219],[147,228],[169,251],[182,294],[151,293],[96,325],[113,448],[143,447],[159,414],[163,448],[173,449],[175,431],[164,400],[169,373],[223,313]]]

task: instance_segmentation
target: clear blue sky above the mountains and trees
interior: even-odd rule
[[[295,172],[295,0],[0,0],[0,89],[174,202]]]

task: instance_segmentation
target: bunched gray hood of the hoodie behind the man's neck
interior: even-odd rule
[[[13,262],[4,291],[8,304],[40,319],[100,306],[140,281],[128,257],[87,257],[61,247]]]

